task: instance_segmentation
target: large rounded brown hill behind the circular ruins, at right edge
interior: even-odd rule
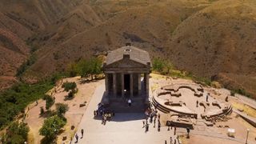
[[[174,30],[168,45],[179,69],[226,79],[228,87],[255,94],[255,34],[256,2],[227,0],[187,18]]]

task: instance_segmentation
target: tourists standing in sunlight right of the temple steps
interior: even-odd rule
[[[143,126],[145,127],[145,132],[149,131],[149,122],[154,123],[154,127],[156,125],[156,121],[158,120],[158,131],[160,131],[161,122],[160,122],[160,114],[158,114],[158,110],[156,107],[149,106],[145,111],[146,119],[143,120]]]

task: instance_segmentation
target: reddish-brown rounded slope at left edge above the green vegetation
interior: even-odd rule
[[[16,82],[16,70],[26,61],[29,48],[10,31],[0,28],[0,89]]]

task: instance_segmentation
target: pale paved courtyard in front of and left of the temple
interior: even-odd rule
[[[94,110],[97,108],[98,102],[101,101],[104,89],[105,86],[101,85],[95,90],[94,96],[82,118],[82,122],[78,126],[78,143],[160,144],[164,143],[165,140],[169,140],[173,132],[168,131],[166,127],[162,127],[161,131],[158,132],[157,128],[154,128],[153,124],[150,124],[149,131],[145,133],[145,128],[142,128],[144,114],[115,114],[114,119],[106,122],[105,126],[102,125],[101,119],[94,119]],[[81,129],[85,130],[84,138],[81,138]],[[72,143],[74,142],[75,140]]]

